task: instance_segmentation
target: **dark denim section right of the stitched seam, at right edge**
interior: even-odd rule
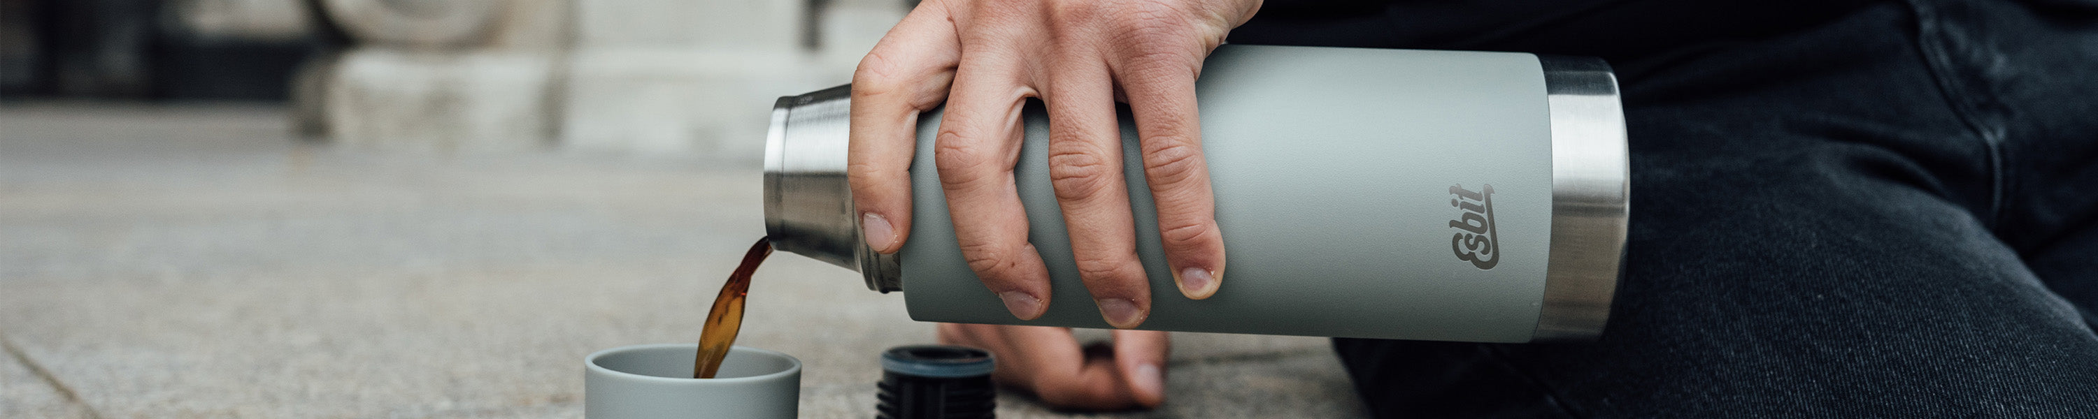
[[[1913,4],[1936,23],[1932,65],[2001,142],[1999,237],[2098,325],[2098,0]]]

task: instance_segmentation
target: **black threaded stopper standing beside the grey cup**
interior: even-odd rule
[[[879,419],[990,419],[990,352],[967,346],[898,346],[881,352]]]

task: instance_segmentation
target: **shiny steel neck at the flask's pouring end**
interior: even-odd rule
[[[858,270],[866,289],[902,291],[902,264],[860,239],[845,180],[852,86],[772,103],[766,132],[766,237],[772,247]]]

